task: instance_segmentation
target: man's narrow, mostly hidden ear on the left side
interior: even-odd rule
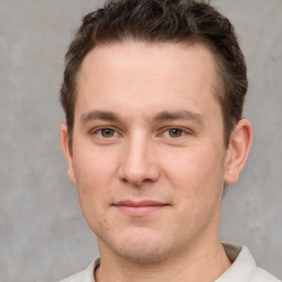
[[[66,124],[61,126],[61,145],[65,154],[65,159],[68,167],[67,170],[68,178],[74,184],[76,184],[76,177],[75,177],[74,167],[73,167],[73,152],[72,152],[72,148],[69,148],[68,131],[67,131]]]

